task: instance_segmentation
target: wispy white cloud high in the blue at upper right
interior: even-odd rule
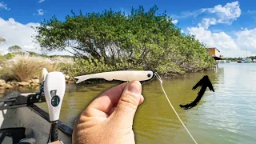
[[[216,14],[210,16],[210,18],[203,18],[202,22],[198,26],[203,26],[208,29],[210,25],[217,25],[218,23],[232,24],[241,15],[241,9],[238,2],[226,3],[225,6],[217,5],[214,8],[203,9],[210,14]]]

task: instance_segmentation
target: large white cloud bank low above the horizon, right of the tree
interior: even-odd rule
[[[224,54],[224,57],[245,57],[256,55],[256,28],[242,29],[234,32],[236,38],[232,38],[225,32],[212,32],[203,27],[187,28],[189,34],[194,34],[200,42],[208,47],[216,47]]]

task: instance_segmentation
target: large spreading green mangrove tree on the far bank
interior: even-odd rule
[[[35,41],[43,51],[68,50],[77,58],[94,58],[108,66],[129,62],[134,67],[161,73],[206,70],[213,58],[194,36],[182,34],[158,7],[143,6],[121,11],[67,15],[64,22],[55,16],[35,27]],[[78,62],[79,63],[79,62]]]

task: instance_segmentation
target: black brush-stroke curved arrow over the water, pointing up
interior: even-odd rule
[[[198,102],[201,100],[202,95],[205,93],[206,88],[209,87],[210,90],[214,91],[214,87],[212,86],[208,75],[205,75],[193,88],[192,90],[196,90],[198,86],[201,86],[201,90],[198,92],[198,97],[189,104],[186,105],[179,105],[181,108],[187,110],[191,109],[194,106],[197,106]]]

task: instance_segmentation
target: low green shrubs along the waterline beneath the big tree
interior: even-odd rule
[[[146,66],[134,65],[133,62],[117,62],[114,65],[109,65],[106,64],[103,58],[100,60],[94,58],[76,58],[74,59],[74,63],[61,62],[58,66],[62,72],[68,74],[71,78],[83,74],[94,74],[115,70],[153,70],[162,76],[171,77],[198,71],[212,70],[214,62],[208,64],[206,62],[200,63],[198,61],[188,61],[182,62],[180,65],[178,65],[178,63],[171,62],[166,65],[147,69]]]

